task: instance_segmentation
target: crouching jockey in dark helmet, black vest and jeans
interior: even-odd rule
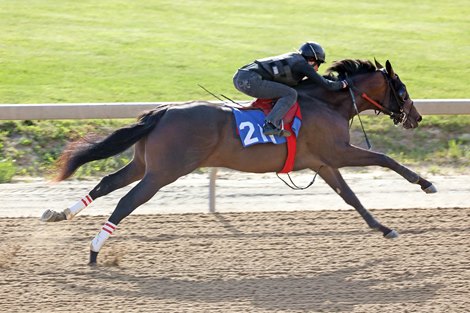
[[[306,42],[297,52],[258,59],[238,69],[233,84],[244,94],[262,99],[276,99],[272,111],[263,125],[265,135],[289,137],[282,127],[282,118],[297,101],[297,91],[292,88],[305,77],[329,90],[347,88],[348,83],[332,81],[317,73],[325,62],[325,51],[316,42]]]

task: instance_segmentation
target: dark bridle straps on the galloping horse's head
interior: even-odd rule
[[[384,95],[384,99],[382,100],[382,103],[383,104],[380,104],[379,102],[377,102],[376,100],[372,99],[371,97],[369,97],[367,95],[366,92],[360,90],[359,88],[357,88],[356,86],[354,86],[353,82],[351,79],[348,79],[348,85],[349,85],[349,88],[350,88],[350,94],[351,94],[351,97],[353,99],[353,104],[355,105],[355,109],[356,109],[356,113],[359,113],[358,110],[357,110],[357,106],[356,106],[356,101],[355,101],[355,97],[354,97],[354,92],[360,94],[360,96],[366,100],[367,102],[371,103],[372,105],[374,105],[377,109],[376,109],[376,112],[378,112],[377,114],[379,114],[380,112],[390,116],[390,118],[393,120],[393,123],[395,125],[398,125],[398,124],[403,124],[406,122],[407,118],[408,118],[408,115],[410,113],[410,110],[411,110],[411,106],[410,106],[410,109],[408,110],[408,112],[405,111],[405,100],[403,100],[403,97],[400,97],[398,94],[397,94],[397,90],[395,90],[395,88],[393,87],[393,82],[392,82],[392,79],[389,77],[388,73],[385,71],[385,69],[381,69],[380,72],[382,73],[385,81],[387,82],[387,91],[385,92],[385,95]],[[397,76],[398,77],[398,76]],[[393,98],[392,98],[393,97]],[[388,98],[388,103],[387,105],[385,105],[385,100]],[[398,108],[399,108],[399,111],[396,112],[396,111],[392,111],[390,108],[389,108],[389,105],[392,101],[395,101],[395,103],[398,105]]]

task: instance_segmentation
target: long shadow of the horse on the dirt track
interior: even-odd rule
[[[119,268],[98,268],[83,277],[84,285],[76,285],[82,279],[69,283],[75,292],[102,294],[107,297],[148,297],[150,299],[177,300],[182,302],[240,303],[270,311],[352,311],[356,305],[386,305],[406,302],[426,302],[432,299],[442,285],[429,283],[430,273],[399,274],[393,279],[354,278],[364,277],[364,271],[377,259],[365,265],[347,266],[323,273],[309,273],[304,277],[269,277],[260,272],[259,277],[217,278],[187,280],[165,277],[149,277],[132,274]],[[390,261],[390,260],[388,260]],[[90,284],[91,278],[105,281],[106,287]],[[120,288],[119,282],[126,282]],[[131,283],[133,288],[129,288]]]

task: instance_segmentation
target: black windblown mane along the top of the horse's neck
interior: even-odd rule
[[[376,68],[374,64],[369,60],[345,59],[333,62],[333,64],[326,70],[325,77],[331,80],[340,80],[345,79],[346,77],[375,71]]]

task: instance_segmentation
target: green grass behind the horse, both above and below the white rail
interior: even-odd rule
[[[389,59],[415,99],[470,98],[469,15],[468,0],[2,0],[0,105],[213,100],[197,84],[246,99],[232,86],[238,67],[306,40],[323,45],[327,66],[344,58]],[[42,175],[68,138],[119,123],[2,122],[0,163],[9,173],[16,164],[17,174]],[[462,133],[469,132],[470,118],[427,123],[407,138],[432,142],[436,136],[426,131],[437,127],[436,146],[413,150],[393,141],[377,148],[411,162],[431,158],[467,166]],[[395,131],[387,119],[368,125],[378,139]],[[122,162],[95,163],[85,172]]]

